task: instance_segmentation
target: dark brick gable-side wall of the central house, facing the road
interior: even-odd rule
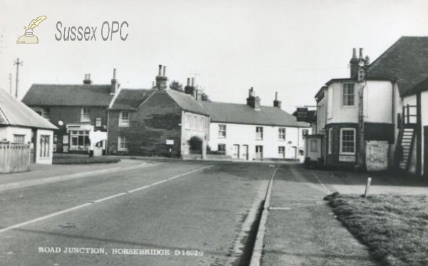
[[[119,155],[180,157],[181,108],[165,92],[148,98],[137,111],[130,111],[128,127],[118,126],[121,111],[111,111],[108,126],[108,153]],[[128,151],[118,150],[118,136],[126,137]],[[166,145],[165,140],[174,140]]]

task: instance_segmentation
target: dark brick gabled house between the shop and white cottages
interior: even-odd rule
[[[109,112],[109,154],[180,157],[189,140],[208,138],[208,112],[193,96],[168,89],[159,66],[153,89],[121,89]]]

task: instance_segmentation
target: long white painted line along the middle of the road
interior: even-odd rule
[[[183,176],[185,176],[185,175],[189,175],[189,174],[191,174],[191,173],[195,173],[195,172],[198,172],[198,171],[200,171],[200,170],[207,169],[207,168],[212,168],[213,166],[215,166],[215,165],[208,165],[208,166],[205,166],[205,167],[203,167],[203,168],[198,168],[198,169],[195,169],[195,170],[191,170],[190,172],[183,173],[183,174],[181,174],[181,175],[175,175],[175,176],[173,176],[172,178],[167,178],[167,179],[165,179],[165,180],[161,180],[161,181],[156,182],[156,183],[153,183],[153,184],[151,184],[151,185],[145,185],[145,186],[143,186],[143,187],[141,187],[141,188],[136,188],[136,189],[133,189],[133,190],[129,190],[129,191],[125,192],[125,193],[118,193],[118,194],[116,194],[116,195],[111,195],[111,196],[108,196],[108,197],[106,197],[106,198],[101,198],[101,199],[99,199],[99,200],[93,200],[93,201],[91,201],[90,203],[85,203],[85,204],[82,204],[82,205],[75,206],[75,207],[73,207],[73,208],[68,208],[68,209],[66,209],[66,210],[61,210],[61,211],[56,212],[56,213],[51,213],[51,214],[49,214],[49,215],[45,215],[45,216],[42,216],[42,217],[39,217],[39,218],[36,218],[36,219],[33,219],[33,220],[29,220],[29,221],[26,221],[26,222],[21,222],[21,223],[16,224],[16,225],[11,225],[11,226],[9,226],[9,227],[5,227],[5,228],[3,228],[3,229],[0,229],[0,234],[1,234],[2,232],[7,232],[7,231],[9,231],[9,230],[14,230],[14,229],[16,229],[16,228],[23,227],[23,226],[25,226],[25,225],[30,225],[31,223],[34,223],[34,222],[39,222],[39,221],[41,221],[41,220],[46,220],[46,219],[49,219],[49,218],[53,218],[53,217],[55,217],[55,216],[58,216],[58,215],[61,215],[61,214],[64,214],[64,213],[69,213],[69,212],[71,212],[71,211],[73,211],[73,210],[78,210],[78,209],[81,209],[81,208],[85,208],[85,207],[88,207],[88,206],[93,205],[94,203],[101,203],[101,202],[106,201],[106,200],[111,200],[112,198],[118,198],[118,197],[121,197],[121,196],[123,196],[123,195],[128,195],[129,193],[134,193],[134,192],[136,192],[136,191],[138,191],[138,190],[143,190],[143,189],[145,189],[145,188],[151,188],[151,187],[153,187],[153,186],[155,186],[155,185],[159,185],[159,184],[161,184],[161,183],[165,183],[166,181],[173,180],[173,179],[175,179],[175,178],[180,178],[180,177],[183,177]]]

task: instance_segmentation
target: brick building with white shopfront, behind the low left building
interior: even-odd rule
[[[88,153],[94,148],[106,154],[108,107],[118,87],[115,75],[111,84],[94,85],[87,74],[80,85],[33,84],[22,102],[58,127],[55,152]],[[93,135],[100,141],[91,147]]]

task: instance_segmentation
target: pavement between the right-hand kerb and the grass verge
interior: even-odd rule
[[[427,194],[428,180],[391,173],[280,168],[272,185],[260,265],[377,265],[322,199],[333,192]]]

